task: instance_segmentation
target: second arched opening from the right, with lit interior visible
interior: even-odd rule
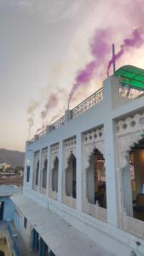
[[[105,160],[101,152],[95,148],[89,157],[89,167],[87,169],[86,187],[87,199],[90,204],[96,202],[100,207],[107,208],[107,190]]]

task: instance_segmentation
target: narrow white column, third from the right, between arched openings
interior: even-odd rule
[[[59,169],[58,169],[58,196],[57,201],[61,203],[61,196],[62,196],[62,163],[63,163],[63,142],[61,141],[59,143]]]

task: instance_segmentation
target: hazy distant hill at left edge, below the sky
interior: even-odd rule
[[[24,166],[25,153],[0,148],[0,164],[6,163],[13,167]]]

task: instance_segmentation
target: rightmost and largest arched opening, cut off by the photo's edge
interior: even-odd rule
[[[144,138],[130,148],[123,172],[124,208],[128,216],[144,221]]]

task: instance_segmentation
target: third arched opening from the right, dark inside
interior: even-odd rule
[[[76,157],[71,154],[66,168],[66,195],[76,198]]]

